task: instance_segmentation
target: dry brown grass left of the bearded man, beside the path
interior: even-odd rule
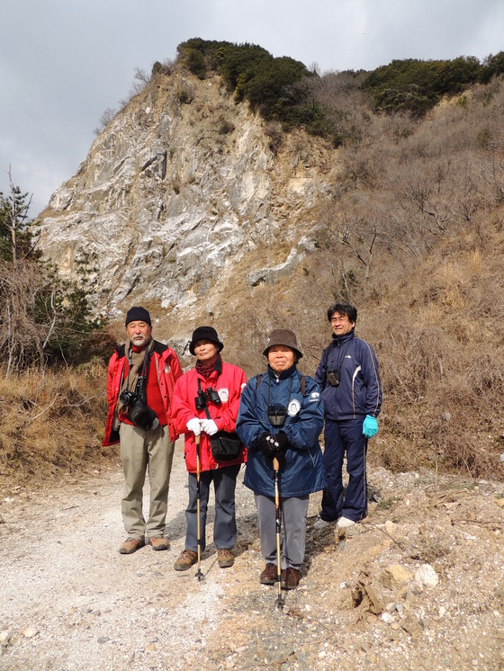
[[[109,460],[102,448],[106,368],[25,371],[0,379],[0,482],[54,479]]]

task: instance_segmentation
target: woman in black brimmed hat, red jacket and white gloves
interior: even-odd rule
[[[220,568],[232,566],[237,538],[235,488],[238,472],[246,461],[247,449],[239,443],[235,454],[219,456],[214,444],[220,432],[234,432],[241,390],[247,384],[245,372],[222,361],[223,344],[213,327],[193,332],[189,351],[196,357],[195,368],[176,381],[172,418],[175,429],[185,434],[184,458],[189,472],[189,505],[185,510],[187,530],[185,550],[175,561],[175,570],[184,571],[197,561],[197,475],[196,441],[200,460],[200,549],[205,548],[205,522],[210,485],[215,493],[213,541]],[[238,440],[238,439],[237,439]]]

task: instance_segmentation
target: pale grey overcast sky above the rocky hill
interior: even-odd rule
[[[8,170],[34,218],[76,173],[136,68],[180,42],[250,42],[329,70],[504,50],[502,0],[1,0],[0,191]]]

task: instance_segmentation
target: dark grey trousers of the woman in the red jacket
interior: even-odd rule
[[[201,550],[206,547],[206,513],[210,485],[213,482],[215,492],[215,520],[213,522],[213,542],[217,550],[231,549],[237,539],[235,511],[235,489],[240,464],[225,466],[222,469],[203,470],[200,473],[200,520]],[[189,473],[189,505],[185,510],[187,531],[185,549],[198,551],[198,514],[197,479],[195,473]]]

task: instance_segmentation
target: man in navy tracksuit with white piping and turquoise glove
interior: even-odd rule
[[[346,528],[367,514],[367,441],[378,433],[382,383],[374,349],[354,333],[357,310],[337,303],[328,310],[332,342],[322,353],[315,380],[324,402],[324,464],[327,485],[322,494],[321,529],[338,520]],[[347,454],[348,486],[344,496],[343,460]]]

